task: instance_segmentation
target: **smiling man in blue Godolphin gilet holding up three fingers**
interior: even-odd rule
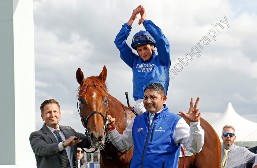
[[[144,107],[147,111],[136,116],[122,134],[115,127],[115,119],[108,115],[110,141],[120,151],[134,145],[130,167],[177,168],[181,144],[192,153],[202,150],[204,130],[200,126],[201,112],[197,109],[200,98],[197,98],[194,107],[191,98],[188,113],[180,111],[190,121],[190,127],[184,118],[169,112],[164,104],[166,99],[163,86],[150,83],[144,91]]]

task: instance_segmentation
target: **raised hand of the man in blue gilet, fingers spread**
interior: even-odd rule
[[[192,97],[190,101],[190,108],[188,113],[185,113],[184,111],[179,111],[179,113],[183,114],[185,118],[191,122],[198,122],[201,118],[201,111],[197,109],[197,105],[200,100],[200,97],[197,97],[194,107],[193,107],[193,100],[194,98]]]

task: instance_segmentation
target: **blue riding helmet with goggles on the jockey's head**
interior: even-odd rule
[[[134,35],[131,47],[136,50],[136,47],[143,46],[149,43],[153,43],[155,47],[155,39],[153,38],[153,36],[151,36],[148,31],[140,30]]]

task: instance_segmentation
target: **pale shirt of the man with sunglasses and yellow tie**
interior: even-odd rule
[[[221,145],[221,161],[224,156],[224,144]],[[245,168],[246,163],[254,163],[257,154],[250,152],[247,148],[232,144],[225,162],[225,168]]]

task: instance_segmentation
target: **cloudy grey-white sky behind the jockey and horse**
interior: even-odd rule
[[[172,74],[166,101],[169,110],[188,111],[190,98],[199,96],[198,108],[208,122],[220,117],[229,102],[239,115],[257,122],[255,1],[34,0],[36,130],[43,125],[40,104],[54,98],[61,105],[60,124],[84,132],[76,108],[78,67],[88,77],[99,75],[105,65],[109,93],[126,104],[124,92],[128,91],[130,104],[135,104],[132,70],[119,57],[114,39],[140,4],[146,19],[169,40],[170,69],[179,70],[178,59],[192,54],[194,46],[201,52],[191,61],[184,58],[188,64],[180,63],[183,69]],[[132,35],[144,30],[138,20],[132,25],[129,46]],[[217,26],[220,32],[216,31],[214,41],[207,33],[217,23],[224,28]],[[210,42],[201,42],[201,49],[197,43],[205,36]]]

